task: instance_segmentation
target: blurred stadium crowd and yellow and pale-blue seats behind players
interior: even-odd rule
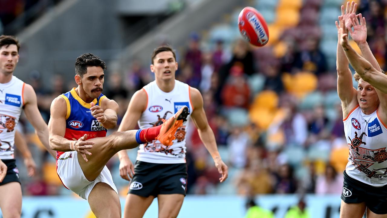
[[[177,51],[176,78],[202,92],[219,152],[229,166],[229,179],[219,184],[211,157],[192,126],[187,133],[188,194],[341,193],[348,144],[336,91],[336,66],[330,61],[335,56],[326,54],[321,44],[327,37],[320,22],[324,17],[317,16],[326,7],[323,2],[305,0],[296,6],[299,20],[272,31],[265,47],[251,47],[241,38],[230,43],[192,33],[186,47]],[[358,3],[358,12],[367,19],[367,41],[385,69],[387,1]],[[329,25],[335,28],[334,20]],[[336,50],[336,44],[333,47]],[[120,105],[119,119],[131,95],[154,79],[148,62],[133,59],[122,71],[106,71],[103,93]],[[57,74],[46,90],[36,71],[26,82],[34,87],[47,122],[51,101],[75,87]],[[16,152],[23,194],[71,195],[58,179],[55,160],[40,145],[25,117],[18,129],[26,135],[38,167],[36,176],[27,177],[22,173],[23,158]],[[129,152],[134,161],[136,152]],[[124,196],[128,182],[120,178],[118,165],[118,158],[113,157],[108,168]]]

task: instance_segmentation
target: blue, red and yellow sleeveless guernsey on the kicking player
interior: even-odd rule
[[[64,138],[68,140],[78,140],[87,134],[87,139],[105,137],[106,129],[91,115],[90,103],[84,102],[73,88],[70,92],[59,95],[66,101],[66,132]],[[102,93],[93,102],[101,105],[102,99],[106,98]],[[57,159],[63,151],[57,151]]]

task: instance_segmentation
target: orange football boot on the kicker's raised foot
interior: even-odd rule
[[[183,125],[184,121],[187,121],[187,116],[190,114],[188,112],[188,107],[184,106],[176,112],[174,116],[168,120],[163,120],[163,124],[160,129],[159,135],[156,137],[161,144],[166,146],[171,146],[173,140],[175,139],[176,130]]]

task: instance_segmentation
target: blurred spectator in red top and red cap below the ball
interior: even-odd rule
[[[230,78],[222,90],[222,102],[226,107],[242,107],[248,109],[250,104],[250,87],[240,66],[230,69]]]

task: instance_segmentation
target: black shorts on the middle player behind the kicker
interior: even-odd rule
[[[136,161],[128,194],[142,197],[187,194],[187,164],[157,164]]]

